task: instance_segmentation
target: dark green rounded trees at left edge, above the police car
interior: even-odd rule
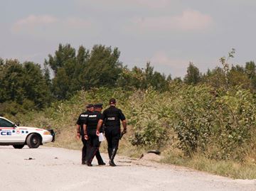
[[[20,108],[42,109],[50,104],[50,89],[40,65],[6,60],[0,66],[0,103],[2,107],[8,103],[4,108],[12,107],[12,114]]]

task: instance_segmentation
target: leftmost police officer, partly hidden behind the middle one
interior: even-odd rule
[[[78,117],[78,121],[77,121],[77,138],[82,140],[82,165],[85,165],[85,159],[86,159],[86,152],[87,152],[87,141],[85,140],[85,135],[84,135],[84,131],[82,129],[82,125],[84,124],[85,119],[87,118],[88,114],[90,114],[90,112],[93,111],[93,105],[92,104],[88,104],[87,105],[87,111],[83,112],[82,114],[80,114],[80,116]]]

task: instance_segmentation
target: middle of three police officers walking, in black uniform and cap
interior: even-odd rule
[[[95,111],[88,114],[83,124],[85,140],[87,140],[87,148],[89,148],[87,153],[88,166],[92,166],[92,160],[95,155],[98,160],[98,164],[105,165],[99,151],[99,137],[96,135],[97,123],[100,119],[102,119],[102,114],[100,111],[102,111],[102,104],[95,104]]]

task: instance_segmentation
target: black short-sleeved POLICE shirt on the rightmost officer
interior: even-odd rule
[[[122,113],[121,109],[117,107],[110,106],[109,108],[103,111],[103,121],[106,127],[108,126],[116,126],[120,127],[120,120],[124,121],[125,116]]]

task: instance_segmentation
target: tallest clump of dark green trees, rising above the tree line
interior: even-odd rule
[[[52,80],[53,94],[57,99],[68,99],[81,89],[92,87],[115,87],[122,72],[120,52],[105,45],[95,45],[91,51],[80,46],[59,45],[55,55],[49,55],[49,65],[55,76]]]

